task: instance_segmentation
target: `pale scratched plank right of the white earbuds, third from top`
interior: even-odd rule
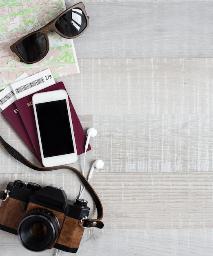
[[[213,168],[212,115],[95,115],[101,172],[203,172]]]

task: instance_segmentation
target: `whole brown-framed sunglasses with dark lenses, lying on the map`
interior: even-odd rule
[[[47,25],[11,45],[11,50],[20,61],[32,64],[40,61],[49,51],[48,32],[55,31],[64,38],[75,38],[83,34],[89,26],[89,17],[82,2],[63,11]]]

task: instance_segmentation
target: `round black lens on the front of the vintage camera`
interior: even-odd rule
[[[43,251],[53,245],[58,236],[59,222],[49,209],[36,209],[28,213],[18,227],[18,239],[27,249]]]

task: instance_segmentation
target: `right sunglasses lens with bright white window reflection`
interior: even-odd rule
[[[58,18],[55,27],[64,36],[77,36],[87,27],[87,19],[80,8],[73,8]]]

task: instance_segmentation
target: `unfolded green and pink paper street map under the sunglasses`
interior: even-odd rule
[[[0,0],[0,90],[24,72],[28,76],[49,68],[53,78],[79,73],[72,39],[55,32],[48,34],[50,48],[39,62],[26,64],[10,46],[57,17],[65,7],[64,0]]]

